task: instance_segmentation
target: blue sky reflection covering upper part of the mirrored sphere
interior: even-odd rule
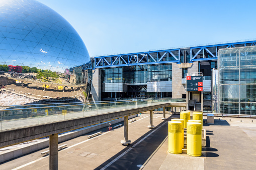
[[[89,61],[77,32],[55,11],[36,1],[0,1],[0,64],[63,73]]]

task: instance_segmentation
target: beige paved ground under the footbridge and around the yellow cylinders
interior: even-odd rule
[[[166,115],[168,120],[179,115]],[[88,139],[87,135],[59,143],[68,148],[59,151],[59,169],[255,169],[256,122],[246,118],[215,118],[214,125],[204,124],[207,147],[200,157],[170,154],[167,140],[167,121],[154,114],[154,129],[148,129],[149,116],[142,114],[129,123],[129,140],[123,146],[123,127]],[[229,120],[231,119],[231,121]],[[242,120],[242,122],[240,122]],[[114,126],[114,125],[112,125]],[[0,169],[49,169],[49,156],[35,151],[0,164]]]

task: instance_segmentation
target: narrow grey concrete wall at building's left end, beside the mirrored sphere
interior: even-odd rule
[[[93,101],[101,101],[101,74],[100,69],[93,70],[92,98]]]

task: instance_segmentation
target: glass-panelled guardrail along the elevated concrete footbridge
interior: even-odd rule
[[[0,130],[21,128],[31,125],[51,123],[80,117],[106,114],[110,112],[134,109],[138,107],[153,106],[170,102],[184,102],[184,99],[159,99],[146,101],[125,101],[105,103],[84,103],[51,106],[32,105],[33,107],[12,106],[12,108],[0,109]],[[39,106],[39,107],[38,107]]]

